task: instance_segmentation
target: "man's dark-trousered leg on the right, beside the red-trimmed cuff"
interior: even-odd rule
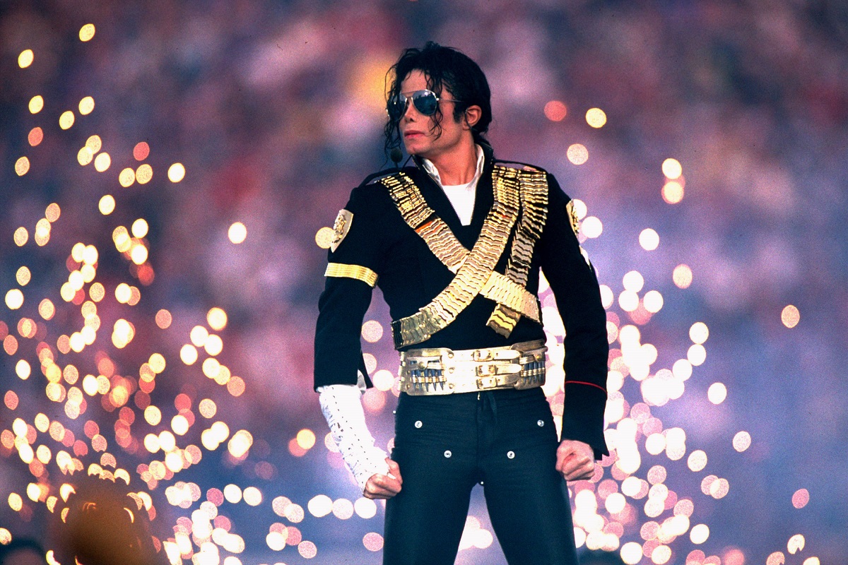
[[[577,565],[571,505],[555,469],[557,440],[548,403],[544,396],[520,406],[499,402],[497,421],[484,458],[483,488],[507,562]]]

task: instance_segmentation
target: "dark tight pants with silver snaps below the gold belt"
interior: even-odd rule
[[[384,565],[454,563],[477,483],[510,565],[576,565],[557,445],[539,388],[401,394],[392,458],[404,485],[386,505]]]

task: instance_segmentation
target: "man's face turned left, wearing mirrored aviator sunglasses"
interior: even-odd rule
[[[418,69],[412,70],[400,83],[400,92],[404,95],[410,95],[412,92],[426,90],[427,88],[427,75],[424,75]],[[406,112],[400,118],[398,124],[400,136],[404,140],[406,152],[410,155],[418,155],[432,160],[455,150],[460,147],[461,143],[472,140],[471,127],[467,121],[465,119],[460,119],[459,122],[454,120],[455,102],[444,100],[444,98],[453,98],[450,92],[444,88],[439,97],[443,98],[438,102],[439,109],[442,111],[441,134],[436,128],[434,116],[421,114],[411,101]]]

